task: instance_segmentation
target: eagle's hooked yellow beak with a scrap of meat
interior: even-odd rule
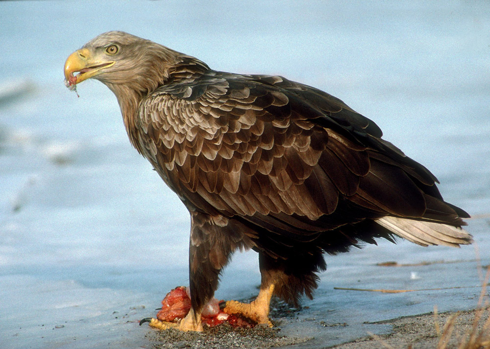
[[[88,48],[82,48],[73,52],[65,62],[65,79],[69,85],[75,85],[83,80],[98,75],[102,68],[107,68],[114,65],[114,61],[97,62],[92,58],[92,54]],[[74,72],[79,74],[73,76]]]

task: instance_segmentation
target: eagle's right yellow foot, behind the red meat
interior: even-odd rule
[[[250,303],[227,301],[222,310],[230,315],[243,315],[259,325],[272,327],[272,323],[269,320],[269,306],[273,291],[274,284],[270,283],[268,286],[260,288],[259,295],[254,301]]]

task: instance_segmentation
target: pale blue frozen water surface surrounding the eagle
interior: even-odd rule
[[[79,98],[63,85],[66,57],[108,30],[340,97],[475,216],[467,229],[490,263],[488,2],[21,1],[0,4],[0,23],[2,348],[148,348],[137,321],[188,283],[188,214],[131,148],[116,98],[97,81]],[[471,308],[480,292],[473,246],[381,241],[326,258],[316,298],[282,328],[315,336],[309,348],[390,330],[365,322]],[[235,255],[217,297],[254,295],[256,259]]]

